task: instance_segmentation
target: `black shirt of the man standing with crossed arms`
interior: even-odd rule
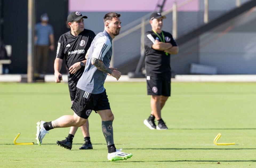
[[[162,33],[158,34],[162,38]],[[163,31],[165,36],[165,43],[171,43],[173,46],[177,46],[173,36],[166,31]],[[160,75],[161,73],[166,73],[171,71],[170,67],[170,54],[166,55],[163,51],[154,50],[152,45],[155,40],[161,40],[158,36],[151,30],[147,31],[145,35],[145,66],[147,76]]]

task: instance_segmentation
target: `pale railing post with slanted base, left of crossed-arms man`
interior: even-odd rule
[[[141,65],[144,59],[144,55],[145,55],[144,43],[145,43],[145,18],[143,17],[141,21],[141,57],[136,67],[135,74],[139,73],[139,69],[141,68]]]

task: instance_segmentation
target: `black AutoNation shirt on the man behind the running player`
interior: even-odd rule
[[[89,49],[95,33],[85,29],[78,36],[73,36],[71,31],[61,35],[57,47],[56,58],[66,60],[66,66],[69,69],[74,63],[85,60],[85,55]],[[85,67],[81,67],[75,74],[68,72],[68,85],[70,91],[76,90],[79,78],[82,76]]]

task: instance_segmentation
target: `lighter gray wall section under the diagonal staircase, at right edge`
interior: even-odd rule
[[[247,12],[199,37],[199,63],[218,74],[256,74],[256,12]]]

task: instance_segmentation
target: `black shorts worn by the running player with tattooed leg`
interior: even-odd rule
[[[71,109],[81,118],[87,119],[91,111],[110,109],[109,99],[106,90],[99,94],[92,94],[77,88],[75,100]]]

